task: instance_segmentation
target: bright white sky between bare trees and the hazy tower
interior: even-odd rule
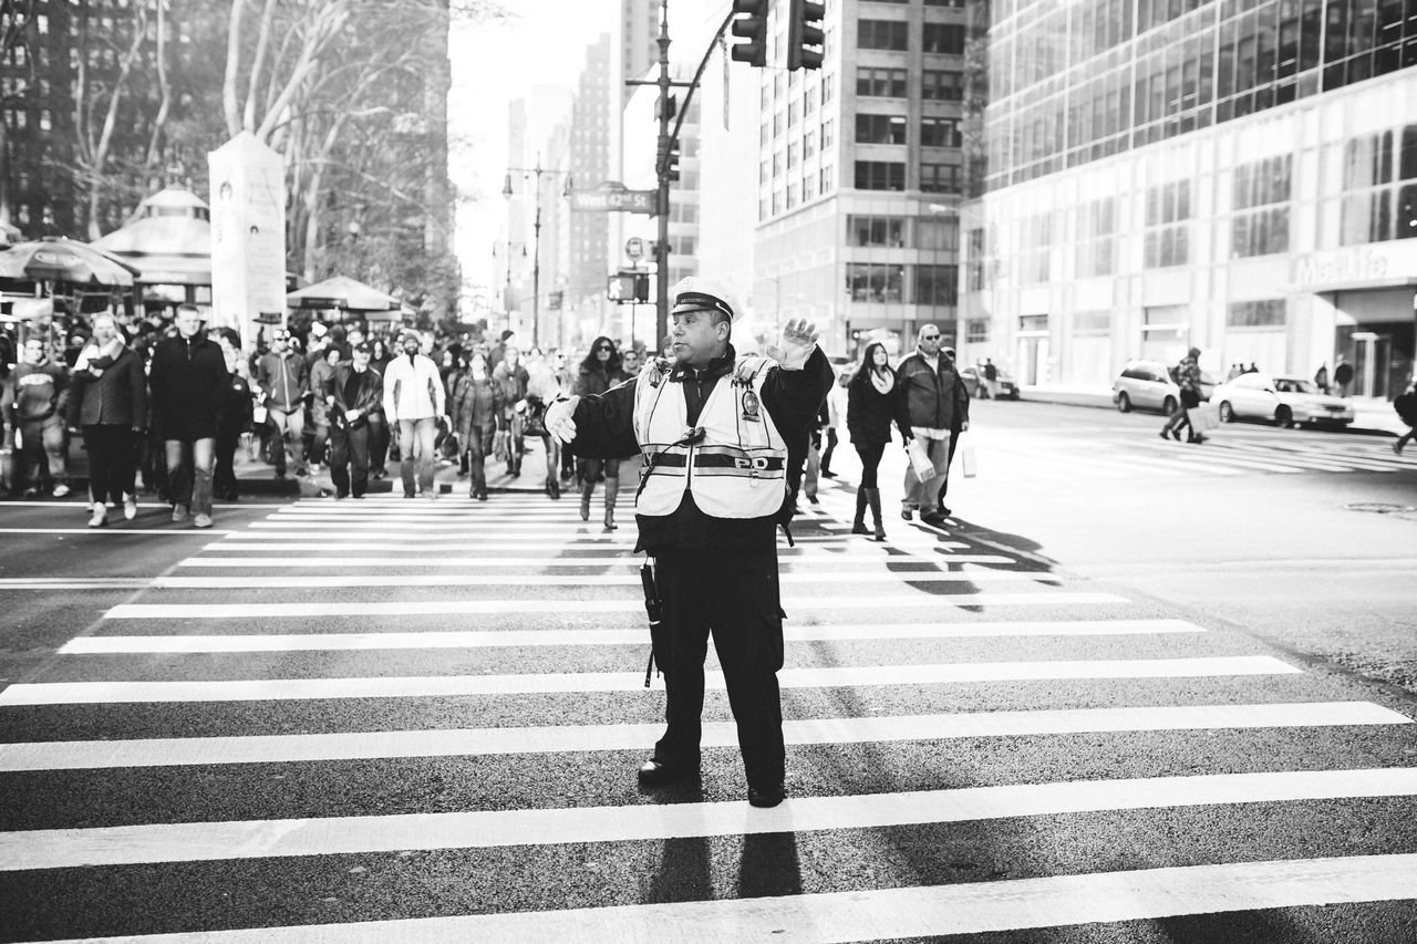
[[[538,86],[574,88],[585,48],[609,33],[616,0],[503,0],[513,11],[502,24],[453,24],[448,132],[458,142],[449,173],[465,197],[458,211],[456,252],[463,276],[493,282],[492,247],[504,235],[507,105],[531,99]],[[533,115],[550,125],[555,116]]]

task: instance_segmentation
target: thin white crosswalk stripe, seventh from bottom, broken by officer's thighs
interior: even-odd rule
[[[385,567],[400,561],[390,560]],[[475,564],[476,566],[476,564]],[[507,587],[514,574],[247,574],[239,577],[154,577],[150,587],[159,590],[289,590],[316,587]],[[640,588],[638,574],[536,574],[537,587],[633,587]],[[939,571],[822,571],[784,573],[784,584],[985,584],[1039,583],[1057,580],[1050,574],[1013,570],[971,570],[966,573]],[[0,590],[4,581],[0,580]],[[564,608],[564,607],[563,607]]]

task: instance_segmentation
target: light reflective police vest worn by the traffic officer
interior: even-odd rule
[[[694,429],[687,424],[684,384],[649,364],[635,386],[635,439],[645,454],[639,515],[672,515],[691,492],[711,517],[768,517],[786,496],[788,444],[762,405],[774,361],[740,357],[714,384]],[[691,435],[703,429],[703,437]],[[687,442],[684,442],[689,439]]]

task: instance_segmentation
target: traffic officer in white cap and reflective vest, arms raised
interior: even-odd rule
[[[667,624],[653,645],[666,730],[639,782],[697,777],[713,635],[748,802],[777,807],[786,795],[775,534],[788,495],[786,441],[816,417],[832,367],[805,320],[788,322],[772,359],[740,357],[730,343],[738,309],[711,279],[680,281],[673,299],[673,360],[650,361],[604,394],[560,400],[546,424],[580,456],[645,456],[636,550],[655,560]]]

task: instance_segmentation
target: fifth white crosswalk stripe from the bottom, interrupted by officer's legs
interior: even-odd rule
[[[614,646],[640,645],[648,629],[495,629],[448,632],[305,632],[286,635],[204,636],[79,636],[60,646],[60,655],[183,653],[183,652],[327,652],[364,649],[470,649],[486,646]],[[1202,634],[1185,619],[1070,619],[1010,622],[908,622],[784,626],[788,642],[849,639],[973,639],[1002,636],[1121,636]]]

